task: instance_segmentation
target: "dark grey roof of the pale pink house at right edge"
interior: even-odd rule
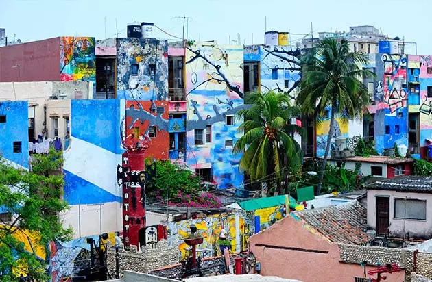
[[[401,175],[393,179],[376,181],[368,186],[368,190],[390,190],[397,192],[432,193],[432,177],[418,175]]]

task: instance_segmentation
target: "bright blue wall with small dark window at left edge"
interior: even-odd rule
[[[0,102],[0,156],[17,168],[29,168],[27,101]],[[14,153],[14,142],[21,142],[21,152]]]

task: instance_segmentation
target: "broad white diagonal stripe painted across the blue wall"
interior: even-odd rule
[[[117,164],[121,164],[121,155],[75,137],[72,137],[69,149],[64,151],[64,170],[121,196],[117,185]]]

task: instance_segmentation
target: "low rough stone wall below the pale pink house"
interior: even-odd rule
[[[368,261],[368,264],[373,266],[377,266],[379,263],[381,265],[398,264],[401,268],[405,268],[405,281],[409,281],[409,276],[414,268],[414,251],[403,248],[339,244],[339,250],[340,261],[348,264],[360,264],[361,261]],[[432,253],[417,254],[416,271],[417,274],[432,279]]]

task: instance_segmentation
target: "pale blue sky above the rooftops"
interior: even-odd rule
[[[130,22],[150,22],[156,38],[182,38],[183,19],[191,40],[219,44],[261,44],[267,31],[289,31],[291,41],[319,31],[348,31],[374,25],[383,34],[417,42],[418,54],[432,55],[431,0],[0,0],[0,28],[8,40],[56,36],[126,37]],[[266,21],[267,18],[267,21]],[[117,20],[117,29],[116,29]],[[106,24],[105,24],[106,23]],[[185,28],[186,29],[186,28]],[[414,54],[413,44],[405,53]]]

